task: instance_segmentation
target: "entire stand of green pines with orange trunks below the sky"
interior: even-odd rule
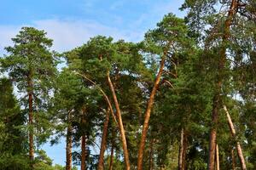
[[[180,10],[64,53],[22,27],[0,57],[0,169],[256,169],[256,1]],[[66,165],[41,147],[61,141]]]

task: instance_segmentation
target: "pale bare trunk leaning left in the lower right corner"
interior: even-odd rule
[[[227,116],[227,119],[228,119],[228,122],[229,122],[230,133],[231,133],[232,137],[236,139],[236,128],[234,127],[234,124],[233,124],[232,119],[230,117],[230,113],[227,110],[227,107],[225,105],[223,105],[223,108],[224,108],[224,111],[226,112],[226,116]],[[237,155],[239,157],[239,160],[241,162],[241,169],[246,170],[247,166],[246,166],[243,154],[242,154],[241,144],[238,141],[236,141],[236,150],[237,150]]]

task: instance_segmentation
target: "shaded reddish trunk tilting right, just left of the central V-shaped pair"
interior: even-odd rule
[[[101,150],[100,150],[100,156],[99,156],[98,170],[104,169],[104,152],[106,150],[106,145],[107,145],[109,113],[110,112],[108,108],[108,111],[106,112],[106,119],[103,126],[102,144],[101,144]]]

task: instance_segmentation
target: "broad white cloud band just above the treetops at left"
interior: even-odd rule
[[[90,37],[97,35],[111,36],[114,40],[125,39],[137,42],[142,40],[143,32],[136,30],[119,30],[115,27],[104,26],[90,20],[36,20],[32,25],[47,32],[47,37],[54,40],[53,49],[62,52],[82,45]],[[11,45],[22,26],[0,26],[0,53],[3,47]]]

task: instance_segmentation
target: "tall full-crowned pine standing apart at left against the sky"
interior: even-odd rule
[[[1,59],[3,71],[7,71],[22,95],[24,111],[28,115],[29,157],[34,159],[35,126],[43,122],[46,99],[49,98],[52,77],[55,76],[55,58],[49,48],[52,40],[45,37],[44,31],[23,27],[12,38],[13,47],[5,48],[9,55]],[[28,107],[27,107],[28,105]],[[38,113],[34,115],[34,112]]]

